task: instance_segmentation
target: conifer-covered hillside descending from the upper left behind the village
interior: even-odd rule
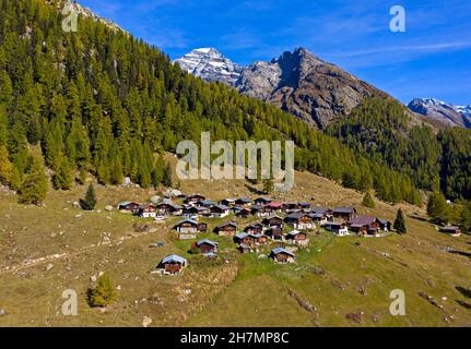
[[[212,140],[233,144],[293,140],[297,169],[357,190],[373,186],[386,201],[420,204],[409,178],[279,108],[204,83],[102,21],[80,16],[80,29],[64,33],[61,20],[56,7],[39,0],[7,1],[0,13],[0,181],[22,202],[44,198],[44,185],[40,195],[30,195],[31,182],[45,181],[43,158],[32,158],[31,146],[42,147],[55,189],[68,190],[86,173],[101,184],[129,177],[152,188],[172,170],[158,154],[175,153],[182,140],[200,143],[209,131]],[[386,180],[374,182],[378,176]]]

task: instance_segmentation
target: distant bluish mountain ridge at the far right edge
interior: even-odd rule
[[[415,98],[409,109],[427,117],[431,122],[471,129],[471,105],[455,106],[435,98]]]

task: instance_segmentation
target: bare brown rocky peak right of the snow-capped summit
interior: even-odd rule
[[[385,93],[304,48],[245,68],[236,87],[325,129],[368,97]]]

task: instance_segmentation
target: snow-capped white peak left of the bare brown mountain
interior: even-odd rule
[[[176,59],[181,69],[205,81],[220,81],[234,86],[240,76],[242,67],[225,58],[215,48],[197,48]]]

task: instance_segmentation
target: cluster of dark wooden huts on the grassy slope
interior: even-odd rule
[[[286,244],[306,246],[309,243],[307,231],[323,227],[337,236],[378,236],[388,232],[391,224],[387,220],[370,216],[360,216],[353,207],[311,207],[310,203],[283,203],[267,197],[225,198],[212,202],[207,197],[196,194],[181,195],[181,205],[165,202],[154,205],[138,205],[125,202],[119,205],[122,212],[131,212],[141,217],[181,216],[174,230],[179,239],[197,239],[199,233],[208,232],[208,224],[199,218],[224,218],[229,215],[247,218],[259,217],[260,221],[252,222],[243,229],[236,221],[226,221],[217,225],[213,232],[219,236],[232,237],[242,253],[258,251],[259,246],[270,241]],[[292,227],[285,232],[285,225]],[[210,239],[197,241],[192,249],[198,250],[204,256],[215,257],[219,244]],[[275,248],[271,250],[270,257],[278,263],[292,263],[295,255],[290,248]],[[179,273],[187,265],[187,260],[170,255],[161,262],[164,274]]]

